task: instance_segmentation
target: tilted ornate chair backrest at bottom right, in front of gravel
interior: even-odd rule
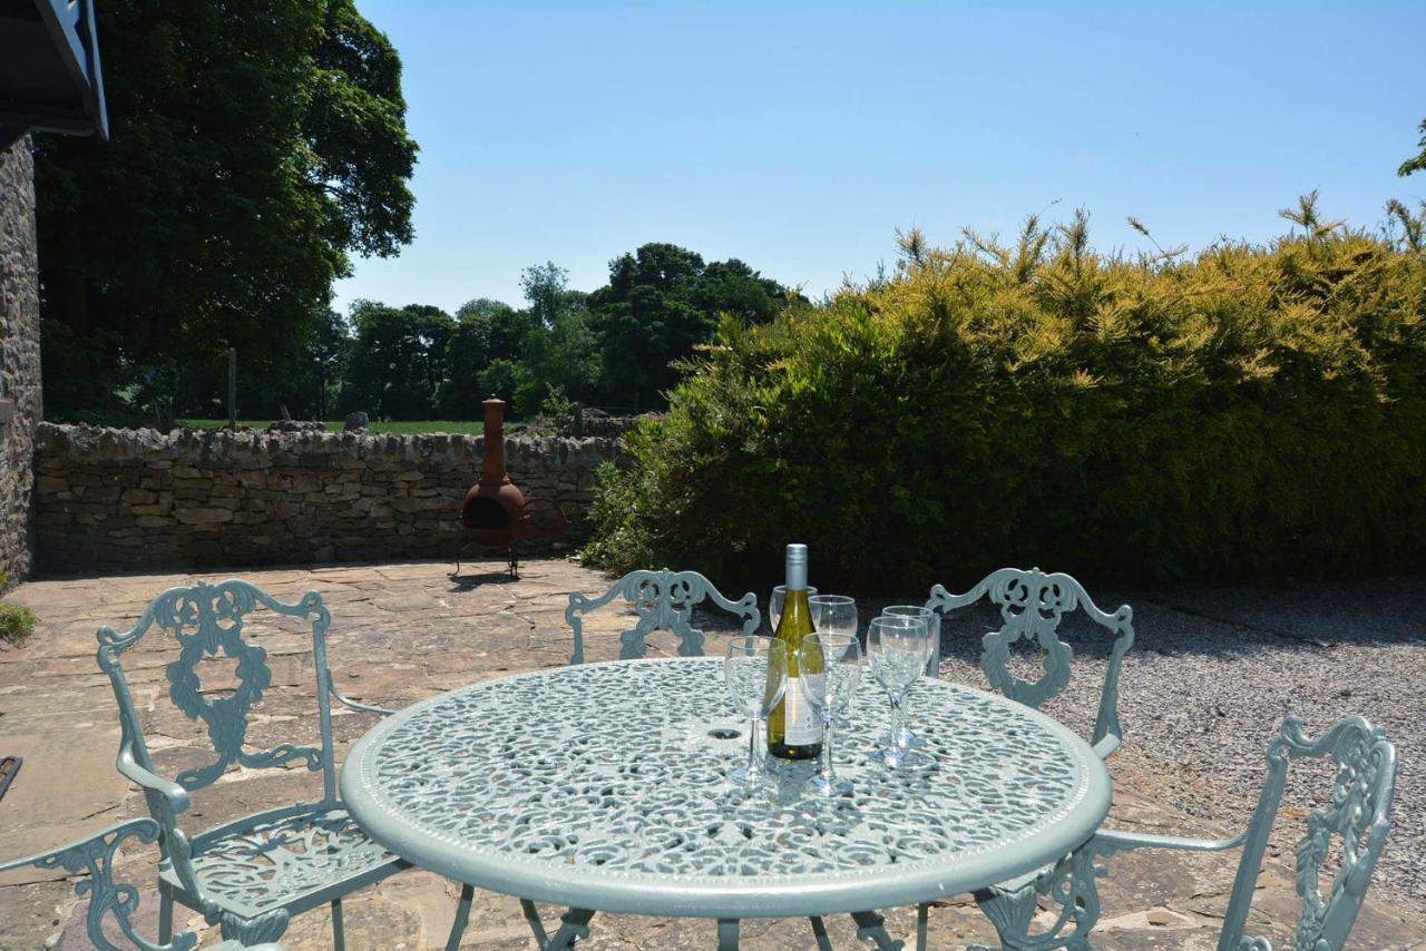
[[[1339,951],[1362,908],[1372,870],[1392,828],[1392,794],[1396,786],[1396,750],[1386,734],[1362,717],[1343,717],[1318,739],[1288,717],[1268,747],[1268,778],[1243,840],[1243,855],[1233,880],[1233,894],[1224,915],[1219,951],[1265,948],[1243,935],[1256,890],[1263,853],[1272,836],[1288,766],[1299,759],[1325,759],[1336,764],[1332,797],[1308,814],[1308,831],[1296,847],[1296,890],[1302,898],[1293,948]],[[1332,845],[1340,851],[1335,861]],[[1335,868],[1333,868],[1335,865]],[[1332,884],[1322,894],[1323,868]]]

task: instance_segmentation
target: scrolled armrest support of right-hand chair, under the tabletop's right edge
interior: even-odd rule
[[[1017,891],[985,891],[975,903],[1000,932],[1007,951],[1089,951],[1089,931],[1099,920],[1099,891],[1095,880],[1107,873],[1095,864],[1097,843],[1089,840],[1032,885]],[[1030,934],[1035,917],[1035,894],[1054,898],[1060,905],[1055,922],[1040,934]]]

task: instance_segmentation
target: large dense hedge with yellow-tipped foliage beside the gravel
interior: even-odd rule
[[[586,555],[764,583],[804,540],[820,583],[868,593],[1407,565],[1426,257],[1312,197],[1283,214],[1303,234],[1192,258],[1097,254],[1082,214],[1012,247],[913,231],[887,278],[726,319],[605,471]]]

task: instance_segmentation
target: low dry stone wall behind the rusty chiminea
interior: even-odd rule
[[[39,567],[240,567],[451,557],[483,438],[104,429],[41,423]],[[595,471],[619,439],[506,439],[525,498],[553,498],[579,538]]]

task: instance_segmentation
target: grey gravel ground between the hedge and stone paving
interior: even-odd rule
[[[1132,774],[1141,790],[1202,820],[1175,831],[1232,833],[1256,806],[1263,753],[1285,716],[1302,717],[1312,734],[1342,716],[1365,716],[1386,730],[1400,763],[1395,827],[1372,888],[1426,908],[1426,575],[1301,590],[1091,595],[1105,610],[1134,607],[1135,643],[1119,687],[1124,746],[1111,759],[1117,777]],[[980,640],[998,623],[980,609],[948,619],[941,674],[984,686]],[[1077,612],[1061,634],[1075,647],[1072,680],[1045,711],[1088,736],[1108,632]],[[1289,773],[1276,831],[1283,857],[1305,831],[1302,807],[1329,796],[1326,770]]]

